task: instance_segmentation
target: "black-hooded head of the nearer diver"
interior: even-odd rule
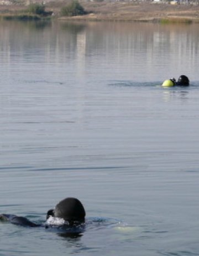
[[[74,197],[67,197],[64,200],[61,200],[55,206],[55,210],[49,213],[53,213],[54,217],[63,218],[69,223],[84,222],[86,216],[82,203]]]

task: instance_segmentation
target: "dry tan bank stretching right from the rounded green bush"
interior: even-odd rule
[[[199,22],[199,6],[163,3],[82,3],[90,13],[73,19]]]

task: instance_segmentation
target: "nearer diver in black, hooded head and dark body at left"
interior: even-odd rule
[[[50,209],[46,214],[46,220],[50,217],[56,217],[64,220],[68,226],[76,226],[85,222],[85,208],[83,207],[80,200],[74,197],[67,197],[61,200],[54,209]],[[26,226],[26,227],[39,227],[42,224],[36,224],[29,221],[25,217],[20,217],[16,215],[2,214],[0,215],[0,221],[9,221],[13,224]],[[45,225],[46,227],[46,225]]]

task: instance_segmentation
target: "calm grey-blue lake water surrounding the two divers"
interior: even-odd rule
[[[0,23],[0,255],[199,255],[198,25]],[[185,74],[191,86],[162,88]]]

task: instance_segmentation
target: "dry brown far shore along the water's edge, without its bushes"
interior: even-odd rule
[[[154,23],[198,23],[199,5],[165,3],[134,3],[134,2],[83,2],[80,1],[88,14],[74,17],[60,17],[59,5],[46,4],[46,10],[54,16],[24,15],[19,13],[22,6],[0,6],[1,19],[38,20],[54,18],[59,20],[78,21],[129,21]]]

